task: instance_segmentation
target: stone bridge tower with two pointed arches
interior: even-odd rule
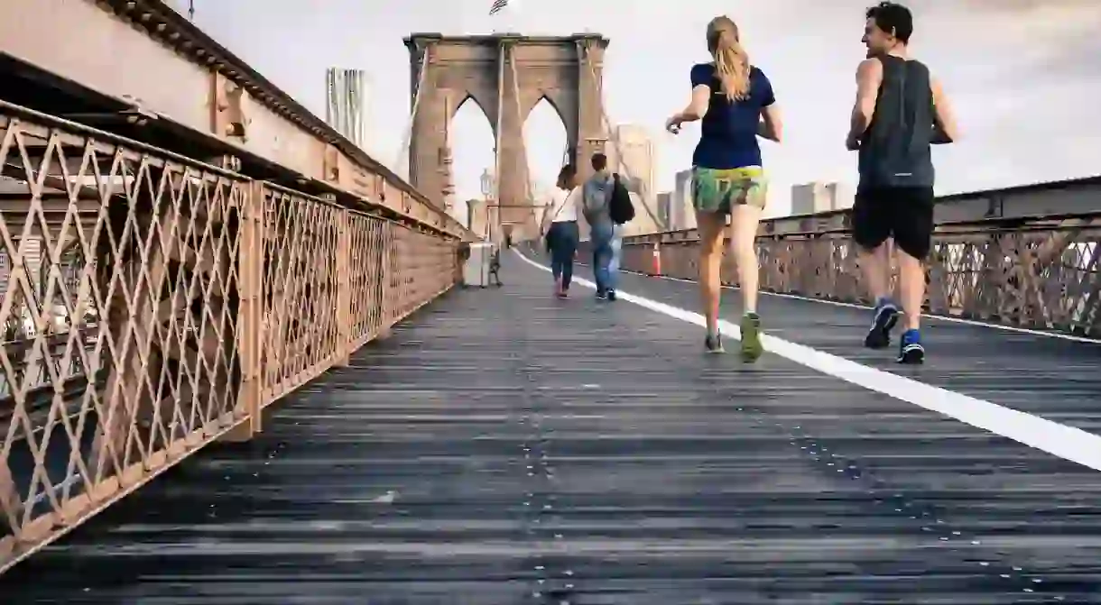
[[[601,107],[603,54],[600,34],[523,36],[493,34],[445,36],[412,34],[412,90],[416,107],[410,139],[410,179],[427,196],[442,200],[450,175],[447,135],[451,118],[467,99],[478,103],[497,142],[497,190],[500,223],[527,231],[533,200],[527,188],[523,127],[544,98],[558,111],[569,157],[582,177],[589,157],[603,151],[607,131]],[[535,142],[532,142],[535,144]],[[514,228],[510,228],[514,226]]]

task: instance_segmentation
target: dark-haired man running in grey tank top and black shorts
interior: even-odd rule
[[[900,363],[922,363],[918,327],[925,300],[924,262],[933,244],[934,168],[929,145],[956,140],[948,99],[929,68],[907,56],[914,32],[909,9],[880,2],[868,9],[868,58],[857,68],[857,103],[846,146],[859,150],[860,185],[852,207],[852,239],[875,310],[864,344],[891,344],[900,308],[889,292],[891,245],[898,249],[906,331]]]

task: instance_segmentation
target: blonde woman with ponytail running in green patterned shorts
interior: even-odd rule
[[[754,362],[764,351],[756,312],[760,268],[754,238],[768,188],[757,136],[781,141],[780,110],[772,84],[764,72],[750,64],[738,25],[730,18],[717,16],[707,25],[707,48],[713,61],[693,66],[691,101],[669,118],[665,128],[676,134],[683,123],[702,121],[693,154],[691,194],[700,239],[705,348],[709,353],[723,351],[718,328],[719,268],[729,216],[742,294],[742,359]]]

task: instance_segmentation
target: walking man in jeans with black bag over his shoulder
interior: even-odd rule
[[[615,256],[617,228],[634,218],[634,206],[620,175],[608,169],[607,155],[592,154],[592,169],[596,174],[582,187],[581,213],[589,223],[597,299],[615,300],[619,267],[612,272],[611,265]]]

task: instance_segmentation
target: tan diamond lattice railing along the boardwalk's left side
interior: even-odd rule
[[[458,241],[0,103],[0,570],[450,288]]]

